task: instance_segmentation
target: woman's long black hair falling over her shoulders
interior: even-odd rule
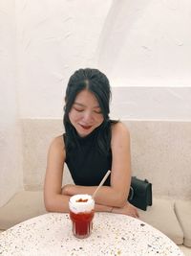
[[[97,134],[98,150],[103,154],[107,154],[110,151],[111,143],[111,123],[117,123],[117,121],[111,121],[109,118],[110,113],[110,100],[111,100],[111,87],[107,77],[98,69],[85,68],[79,69],[71,76],[68,86],[66,88],[64,107],[64,127],[65,127],[65,147],[66,150],[70,150],[71,147],[78,146],[76,140],[76,131],[69,119],[69,112],[74,105],[76,95],[87,89],[92,92],[101,108],[103,115],[103,122],[99,127]]]

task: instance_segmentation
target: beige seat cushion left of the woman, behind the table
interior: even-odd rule
[[[5,230],[21,221],[46,213],[42,191],[22,191],[0,207],[0,229]]]

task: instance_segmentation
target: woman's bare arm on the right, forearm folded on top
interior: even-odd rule
[[[127,203],[128,191],[131,181],[130,161],[130,135],[122,123],[117,123],[112,128],[112,173],[111,186],[102,186],[96,194],[96,203],[111,207],[123,207]],[[64,195],[90,194],[96,186],[66,185],[63,187]]]

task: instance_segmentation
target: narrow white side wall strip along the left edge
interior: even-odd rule
[[[0,1],[0,206],[22,187],[16,103],[14,1]]]

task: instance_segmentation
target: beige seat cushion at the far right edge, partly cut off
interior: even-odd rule
[[[191,247],[191,201],[176,200],[175,213],[183,230],[183,244]]]

